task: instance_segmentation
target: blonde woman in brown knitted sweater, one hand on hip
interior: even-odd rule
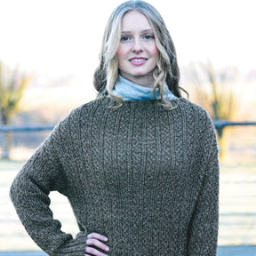
[[[181,98],[171,36],[142,1],[108,20],[97,100],[74,109],[12,183],[28,234],[49,255],[216,255],[219,164],[212,120]],[[68,197],[76,238],[48,197]]]

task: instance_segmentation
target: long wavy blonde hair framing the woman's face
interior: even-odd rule
[[[116,10],[110,15],[102,40],[100,64],[94,72],[94,87],[99,92],[98,96],[108,95],[113,100],[123,102],[122,98],[112,94],[112,90],[119,74],[116,51],[121,38],[122,20],[124,14],[131,11],[137,11],[145,15],[154,31],[156,47],[159,51],[154,71],[154,97],[156,98],[156,89],[158,88],[164,106],[172,108],[170,100],[164,99],[164,82],[175,96],[181,97],[180,69],[175,47],[160,13],[155,7],[144,1],[124,2],[117,6]]]

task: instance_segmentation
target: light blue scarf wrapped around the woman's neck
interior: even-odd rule
[[[167,95],[168,92],[168,95]],[[118,76],[115,88],[112,92],[114,95],[124,98],[124,100],[155,100],[153,88],[135,84],[132,81]],[[169,90],[167,84],[164,83],[164,98],[175,100],[177,97]],[[161,99],[159,89],[156,89],[157,100]]]

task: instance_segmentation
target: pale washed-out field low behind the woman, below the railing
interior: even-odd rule
[[[0,160],[0,251],[38,250],[20,224],[9,199],[13,178],[23,161]],[[65,232],[76,234],[76,221],[68,200],[51,194],[54,218]],[[219,245],[256,244],[256,164],[220,166]]]

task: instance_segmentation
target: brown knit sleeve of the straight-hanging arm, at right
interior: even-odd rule
[[[207,115],[208,116],[208,115]],[[216,133],[208,116],[201,137],[204,177],[188,229],[188,256],[215,256],[219,227],[219,160]]]

